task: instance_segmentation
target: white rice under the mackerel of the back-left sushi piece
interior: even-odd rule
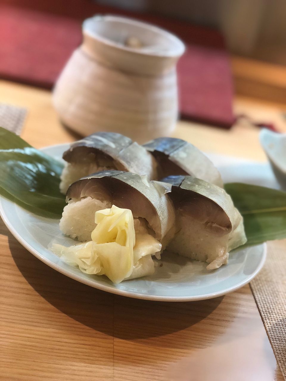
[[[64,169],[61,174],[61,182],[59,184],[59,190],[61,193],[66,194],[68,187],[75,181],[79,180],[84,176],[88,176],[91,173],[96,173],[99,171],[106,171],[110,168],[106,166],[98,166],[95,162],[86,163],[64,163]]]

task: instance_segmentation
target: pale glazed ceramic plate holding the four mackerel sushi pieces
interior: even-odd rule
[[[67,147],[68,145],[64,144],[47,147],[43,151],[53,157],[61,158]],[[214,156],[212,159],[219,164],[221,171],[224,164],[230,166],[230,160],[227,157]],[[237,171],[233,170],[233,166],[231,173],[236,176]],[[243,181],[241,173],[238,177],[228,181]],[[215,271],[207,271],[205,263],[165,253],[162,255],[163,266],[157,267],[154,275],[114,285],[104,276],[84,274],[78,268],[68,266],[48,249],[52,243],[69,246],[74,242],[61,234],[58,220],[33,215],[4,198],[0,198],[0,212],[4,223],[14,237],[48,266],[89,286],[131,298],[193,301],[225,295],[237,290],[255,277],[266,257],[266,245],[258,245],[231,253],[227,266],[222,266]]]

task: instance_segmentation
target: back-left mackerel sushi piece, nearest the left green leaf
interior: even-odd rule
[[[157,179],[156,162],[142,146],[121,134],[97,132],[74,142],[63,154],[60,191],[78,179],[103,170],[130,171]]]

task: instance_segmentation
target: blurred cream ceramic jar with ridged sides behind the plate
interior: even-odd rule
[[[170,134],[184,50],[181,40],[150,24],[117,16],[85,20],[83,43],[53,91],[60,119],[84,136],[113,131],[144,142]]]

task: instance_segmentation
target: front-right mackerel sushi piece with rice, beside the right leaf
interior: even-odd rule
[[[169,176],[177,232],[167,250],[209,263],[228,262],[229,251],[246,243],[243,218],[224,189],[191,176]]]

